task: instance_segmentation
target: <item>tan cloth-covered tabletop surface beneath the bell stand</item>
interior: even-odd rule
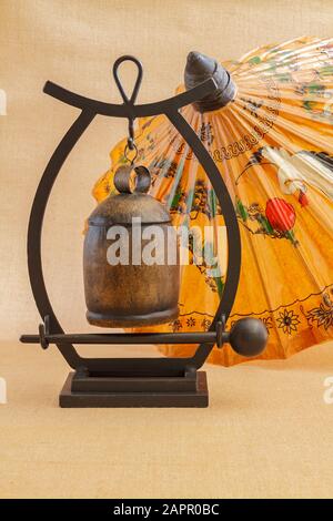
[[[208,409],[60,409],[68,368],[54,347],[2,344],[0,360],[1,498],[333,497],[333,343],[205,366]]]

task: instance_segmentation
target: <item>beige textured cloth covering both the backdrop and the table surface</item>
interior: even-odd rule
[[[332,497],[333,405],[323,401],[330,344],[286,361],[209,367],[209,409],[129,411],[59,409],[68,371],[60,354],[7,341],[36,333],[40,320],[26,266],[28,217],[42,171],[77,116],[42,94],[47,80],[118,102],[110,69],[133,53],[144,65],[140,101],[154,101],[173,93],[190,50],[236,58],[300,34],[332,37],[332,28],[331,0],[0,0],[8,100],[0,116],[0,376],[9,390],[0,407],[0,497]],[[80,232],[94,206],[90,188],[125,131],[124,121],[98,118],[52,192],[44,269],[68,330],[89,330]]]

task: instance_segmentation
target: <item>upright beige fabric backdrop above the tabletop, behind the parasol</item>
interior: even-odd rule
[[[0,335],[14,339],[39,321],[26,267],[26,232],[42,171],[77,110],[42,94],[46,80],[118,102],[110,68],[133,53],[144,65],[140,101],[169,96],[186,53],[221,59],[301,34],[332,37],[330,0],[0,0]],[[130,80],[130,71],[124,76]],[[43,237],[51,299],[67,329],[89,329],[81,274],[90,190],[109,166],[124,121],[98,118],[67,161],[52,192]]]

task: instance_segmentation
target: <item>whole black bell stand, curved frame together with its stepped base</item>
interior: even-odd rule
[[[117,74],[119,64],[127,60],[134,62],[139,70],[131,99],[124,94]],[[83,98],[51,82],[44,85],[43,92],[80,109],[81,113],[50,159],[32,204],[28,229],[28,267],[34,300],[44,323],[39,327],[39,335],[23,335],[20,340],[30,344],[40,343],[43,349],[49,344],[56,344],[69,366],[75,370],[69,375],[61,391],[61,407],[206,407],[205,372],[198,370],[215,344],[222,347],[229,340],[224,324],[238,289],[241,243],[233,203],[221,174],[179,111],[182,106],[212,93],[216,85],[213,79],[209,79],[196,88],[168,100],[135,105],[142,76],[141,63],[133,57],[122,57],[114,63],[113,74],[123,104],[117,105]],[[97,114],[127,118],[131,131],[135,118],[165,114],[205,170],[221,205],[229,244],[224,292],[209,331],[64,334],[52,309],[43,279],[42,223],[53,183],[69,153]],[[199,347],[191,358],[82,358],[72,344],[199,344]]]

